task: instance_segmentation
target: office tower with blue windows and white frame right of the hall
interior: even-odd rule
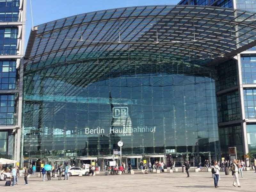
[[[254,0],[184,0],[179,4],[256,11]],[[216,90],[216,95],[217,110],[222,117],[218,119],[220,148],[226,158],[228,147],[236,147],[239,158],[248,153],[256,155],[255,54],[256,48],[252,47],[237,54],[228,68],[221,65],[216,68],[223,84]]]

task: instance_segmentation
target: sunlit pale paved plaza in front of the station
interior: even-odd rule
[[[190,172],[190,177],[186,178],[186,173],[149,173],[141,174],[135,171],[134,175],[109,175],[104,172],[94,177],[71,176],[68,180],[58,180],[52,178],[51,181],[42,181],[42,178],[31,176],[28,178],[28,185],[24,186],[24,178],[19,178],[19,185],[5,187],[5,181],[0,181],[1,192],[68,192],[68,191],[248,191],[255,192],[255,176],[253,171],[244,171],[244,178],[239,176],[241,188],[233,187],[233,176],[220,173],[219,188],[214,188],[211,172]],[[63,178],[64,179],[64,178]]]

